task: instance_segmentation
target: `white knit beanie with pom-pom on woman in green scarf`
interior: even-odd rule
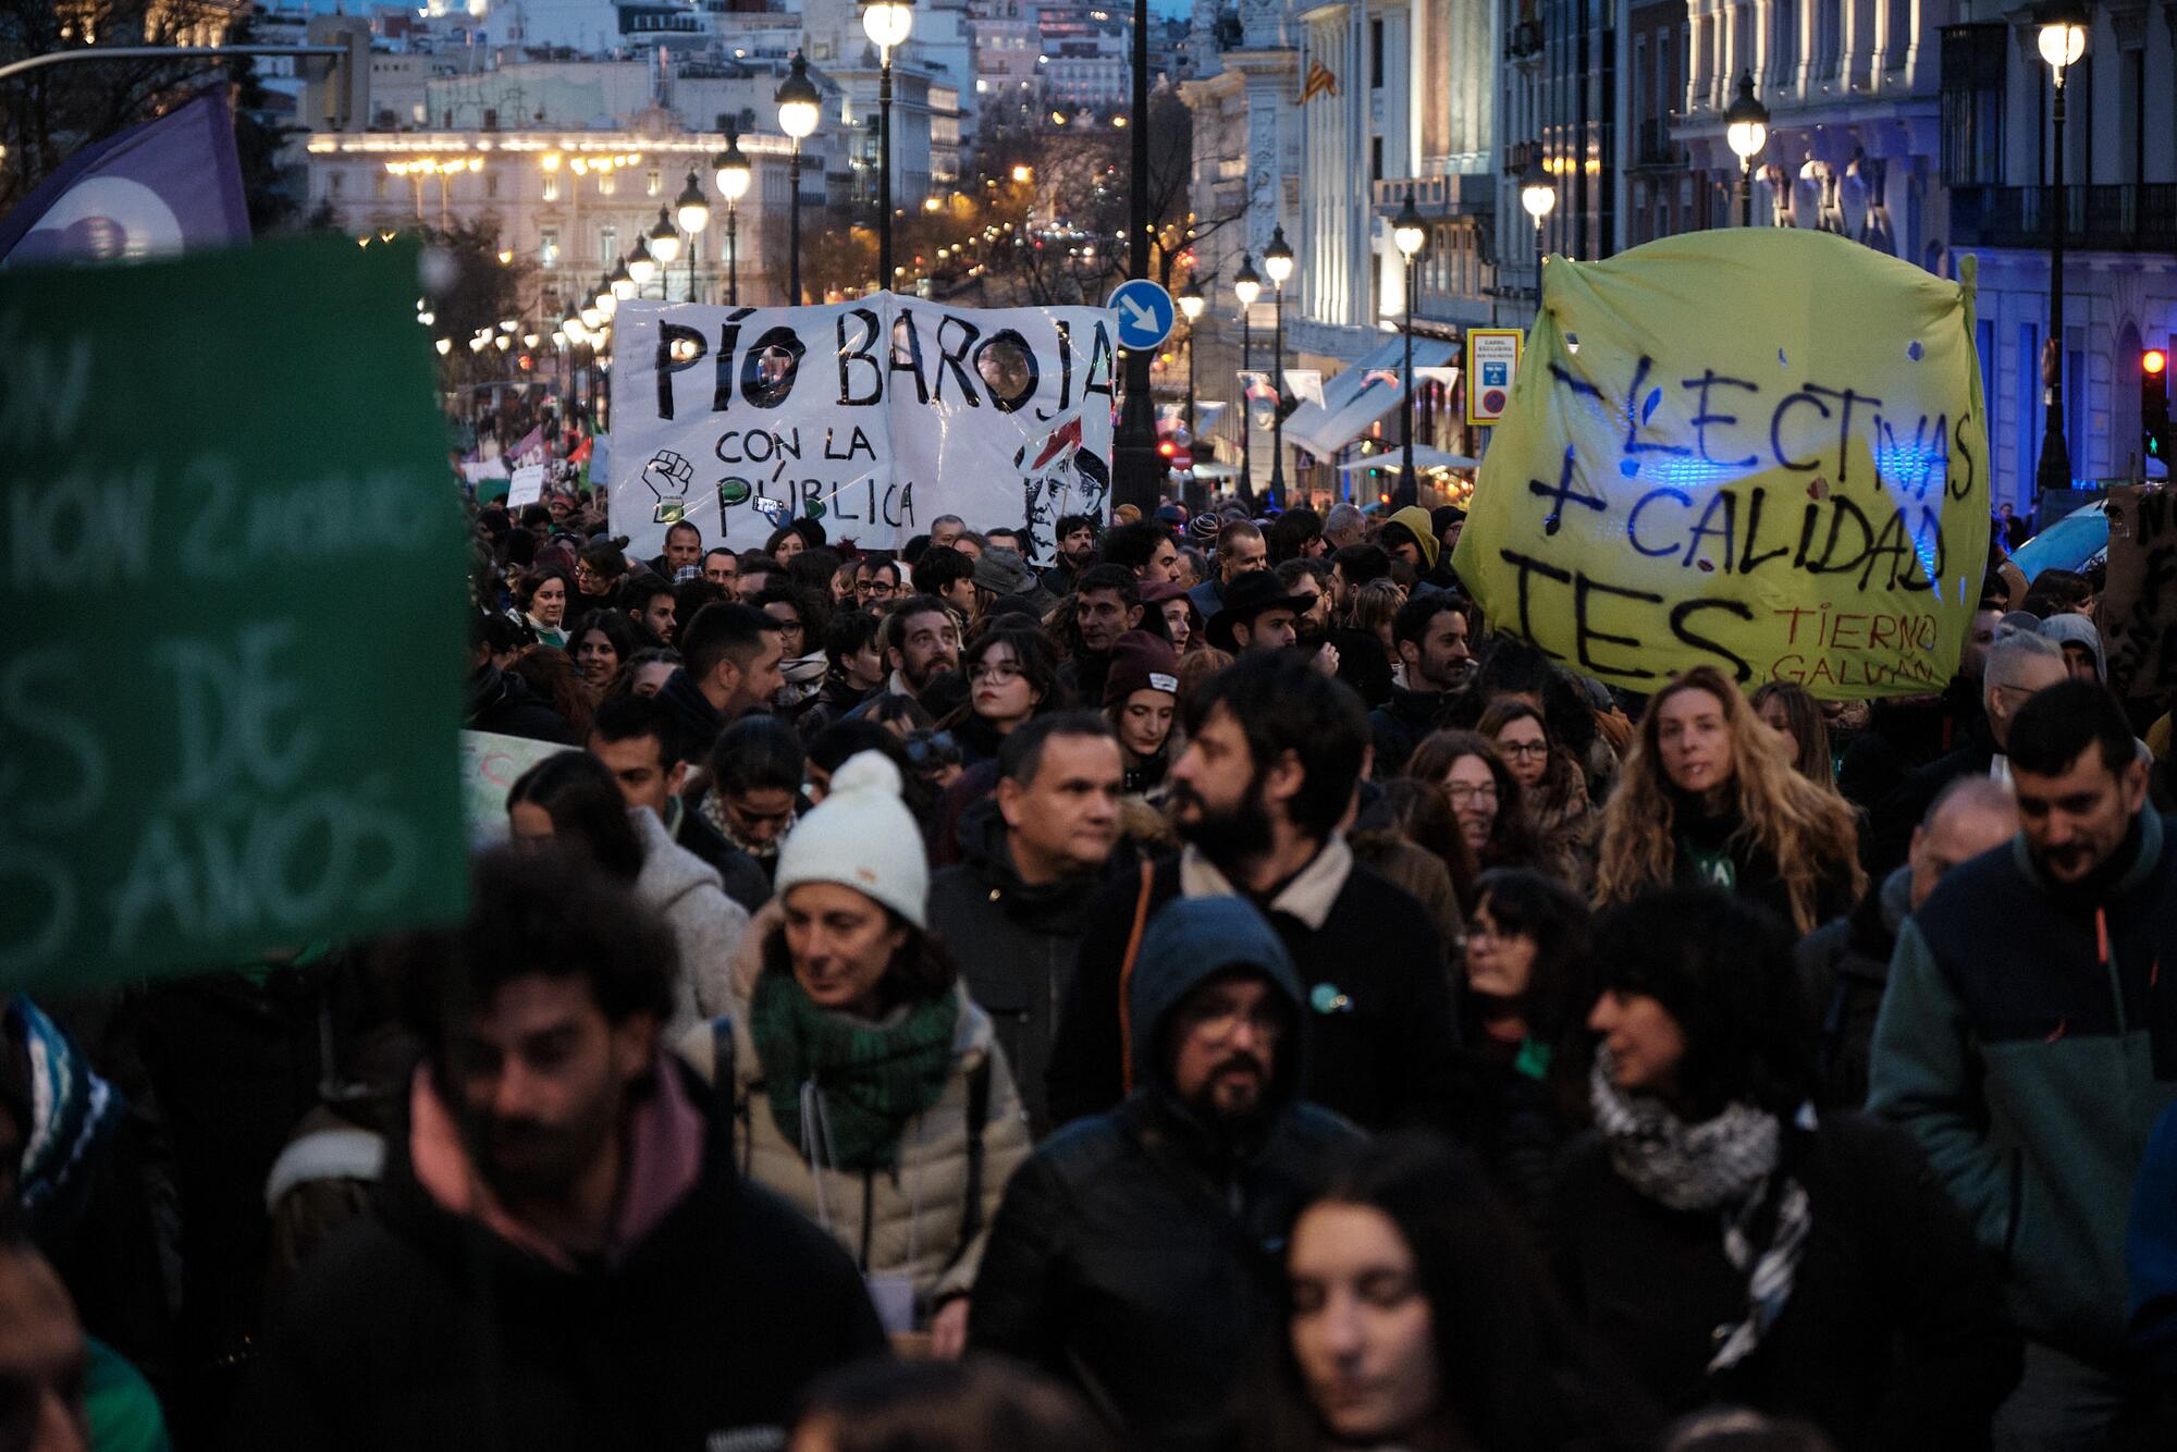
[[[899,768],[882,751],[847,758],[825,799],[779,847],[779,897],[803,882],[836,882],[923,927],[930,864],[899,790]]]

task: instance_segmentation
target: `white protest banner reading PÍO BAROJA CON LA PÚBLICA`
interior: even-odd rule
[[[614,333],[612,533],[631,555],[679,520],[729,549],[795,518],[895,549],[958,514],[1025,527],[1051,559],[1058,516],[1108,518],[1108,309],[627,303]]]

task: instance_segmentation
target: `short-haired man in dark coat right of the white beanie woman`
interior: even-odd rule
[[[997,792],[960,816],[964,860],[930,879],[930,932],[991,1014],[1041,1141],[1051,1132],[1051,1032],[1119,842],[1126,768],[1102,716],[1062,712],[1008,736],[997,771]]]

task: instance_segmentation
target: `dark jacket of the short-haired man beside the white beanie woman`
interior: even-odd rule
[[[960,816],[962,862],[930,879],[930,932],[960,964],[973,997],[997,1030],[1006,1065],[1028,1106],[1028,1132],[1051,1132],[1043,1075],[1051,1062],[1058,1008],[1073,986],[1082,923],[1104,886],[1102,873],[1028,886],[1012,866],[1006,821],[984,799]]]

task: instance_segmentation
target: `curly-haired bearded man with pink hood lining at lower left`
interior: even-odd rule
[[[784,1445],[801,1389],[884,1345],[660,1047],[673,936],[623,888],[492,853],[468,921],[390,958],[425,1049],[407,1125],[259,1343],[242,1445]]]

